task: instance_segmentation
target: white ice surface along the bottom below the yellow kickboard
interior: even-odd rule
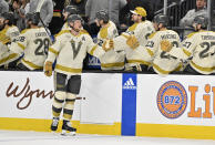
[[[0,131],[0,145],[215,145],[215,141]]]

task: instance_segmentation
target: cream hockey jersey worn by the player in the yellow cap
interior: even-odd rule
[[[134,64],[145,64],[150,65],[150,63],[145,62],[143,60],[143,49],[144,45],[147,43],[147,38],[150,37],[151,33],[153,33],[154,27],[151,21],[143,21],[140,23],[134,23],[132,27],[130,27],[126,32],[123,32],[120,37],[116,37],[114,39],[114,50],[115,51],[125,51],[126,60],[127,60],[127,66],[132,66]],[[139,43],[141,44],[136,49],[131,49],[127,44],[127,38],[130,35],[135,35]]]

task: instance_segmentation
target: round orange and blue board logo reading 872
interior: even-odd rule
[[[176,81],[164,83],[156,100],[160,112],[167,118],[181,116],[187,105],[187,94],[184,86]]]

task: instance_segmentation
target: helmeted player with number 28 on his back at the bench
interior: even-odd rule
[[[23,54],[18,70],[42,70],[51,40],[44,28],[38,27],[37,13],[27,13],[25,19],[29,29],[21,32],[10,49],[13,53]]]

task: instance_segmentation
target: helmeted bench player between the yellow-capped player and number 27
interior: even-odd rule
[[[145,60],[151,62],[152,71],[157,74],[168,74],[173,71],[180,71],[182,68],[181,61],[171,55],[172,49],[181,49],[181,41],[178,34],[173,30],[167,30],[168,18],[164,14],[157,14],[154,17],[153,24],[156,32],[149,37],[145,49],[151,55]]]

